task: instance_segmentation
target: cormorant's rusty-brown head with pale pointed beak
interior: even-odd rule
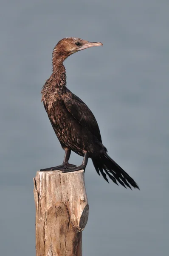
[[[71,54],[94,46],[103,46],[103,44],[100,42],[88,42],[81,38],[63,38],[54,47],[53,64],[58,61],[63,62]]]

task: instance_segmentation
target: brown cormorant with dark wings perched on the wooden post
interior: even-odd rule
[[[103,46],[101,42],[90,42],[81,38],[63,38],[52,53],[52,74],[42,87],[42,100],[48,118],[62,148],[65,150],[63,163],[40,171],[75,172],[84,170],[91,158],[96,172],[109,183],[121,184],[125,188],[139,189],[137,183],[108,155],[102,144],[99,125],[87,105],[73,94],[66,83],[66,70],[63,62],[75,52]],[[82,164],[69,163],[74,151],[83,157]],[[107,178],[108,177],[108,178]]]

